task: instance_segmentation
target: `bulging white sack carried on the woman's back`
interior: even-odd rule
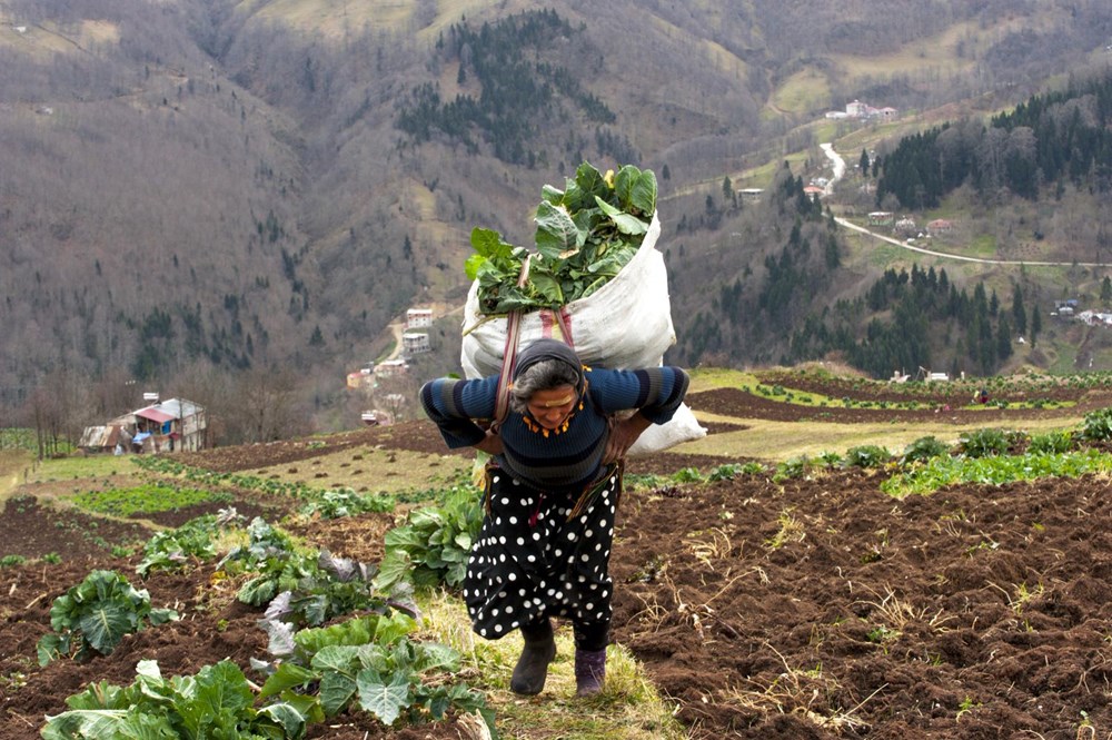
[[[543,337],[564,339],[585,365],[629,369],[654,367],[676,342],[668,302],[668,273],[656,248],[661,221],[656,214],[637,254],[609,283],[586,298],[559,309],[530,312],[520,317],[518,347]],[[567,328],[568,336],[563,336]],[[468,378],[497,375],[506,351],[507,319],[479,312],[478,282],[464,306],[460,364]],[[691,408],[682,405],[671,422],[653,425],[629,450],[631,455],[661,452],[706,436]]]

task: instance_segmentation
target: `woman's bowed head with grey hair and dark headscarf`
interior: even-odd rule
[[[579,401],[582,386],[583,366],[575,351],[555,339],[537,339],[518,356],[509,405],[555,428]]]

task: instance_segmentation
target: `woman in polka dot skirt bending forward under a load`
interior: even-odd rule
[[[440,378],[421,388],[425,413],[449,447],[493,455],[464,600],[479,635],[522,631],[515,692],[544,689],[556,657],[553,616],[573,624],[576,694],[602,690],[622,460],[649,424],[672,418],[687,383],[678,367],[593,371],[569,346],[538,339],[518,355],[509,411],[494,428],[478,422],[495,415],[497,376]],[[631,410],[624,421],[612,416]]]

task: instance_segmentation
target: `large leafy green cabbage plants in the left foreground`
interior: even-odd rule
[[[228,510],[160,532],[137,571],[212,560],[214,539],[237,521]],[[306,552],[261,519],[216,566],[217,579],[246,576],[237,598],[266,608],[260,628],[269,655],[251,661],[266,679],[261,689],[230,661],[169,680],[156,662],[142,661],[130,687],[101,682],[70,697],[70,711],[49,717],[42,736],[296,739],[345,710],[370,712],[388,727],[478,712],[494,733],[483,694],[454,675],[459,654],[409,639],[417,623],[406,584],[378,591],[375,566]],[[363,615],[335,623],[353,613]],[[178,616],[150,609],[146,592],[112,571],[90,574],[56,601],[51,615],[58,632],[40,641],[43,662],[110,652],[122,634]]]

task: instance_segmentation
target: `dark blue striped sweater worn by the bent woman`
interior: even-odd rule
[[[687,393],[687,373],[678,367],[636,371],[587,369],[587,393],[565,432],[535,432],[522,414],[510,411],[502,424],[505,452],[498,463],[515,478],[542,491],[570,493],[598,475],[609,432],[607,417],[639,410],[654,424],[672,418]],[[481,442],[477,422],[494,416],[498,377],[475,381],[439,378],[420,389],[425,413],[451,448]],[[532,427],[532,428],[530,428]]]

